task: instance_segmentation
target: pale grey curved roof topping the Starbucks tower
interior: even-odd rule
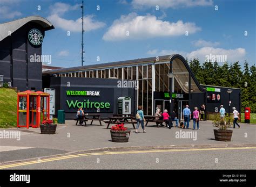
[[[21,19],[16,19],[13,21],[9,21],[9,22],[0,24],[0,41],[5,39],[6,37],[8,37],[9,31],[11,33],[14,33],[19,28],[21,28],[23,25],[25,25],[29,22],[33,22],[33,23],[37,23],[37,24],[41,25],[42,27],[44,27],[45,31],[55,28],[50,23],[50,21],[48,21],[47,19],[40,17],[40,16],[29,16],[29,17],[25,17],[25,18],[21,18]]]

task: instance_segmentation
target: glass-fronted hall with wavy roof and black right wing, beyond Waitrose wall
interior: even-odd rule
[[[241,89],[200,85],[184,57],[178,54],[44,71],[43,80],[49,80],[49,77],[63,77],[69,80],[91,78],[98,85],[104,85],[107,81],[113,82],[113,78],[135,81],[135,109],[142,105],[144,114],[149,116],[154,115],[156,107],[161,111],[170,111],[171,104],[179,118],[186,105],[190,105],[193,111],[194,107],[200,109],[204,104],[207,112],[218,112],[223,104],[228,111],[227,89],[233,90],[230,109],[234,106],[240,112],[241,107]],[[84,81],[80,83],[86,85]],[[112,86],[117,88],[117,81],[113,83],[115,85]],[[60,93],[63,94],[62,91]]]

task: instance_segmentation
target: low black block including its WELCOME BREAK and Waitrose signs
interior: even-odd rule
[[[82,107],[85,113],[100,113],[101,117],[111,116],[113,113],[118,113],[117,98],[122,96],[131,98],[130,113],[134,114],[137,92],[134,88],[118,88],[119,81],[121,80],[99,81],[97,78],[48,76],[43,78],[43,87],[55,89],[55,113],[64,110],[66,119],[73,119],[78,107]],[[95,106],[95,103],[98,106]]]

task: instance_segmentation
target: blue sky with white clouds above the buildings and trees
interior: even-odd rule
[[[38,15],[50,66],[81,66],[82,1],[0,0],[0,23]],[[178,53],[255,64],[254,0],[85,0],[84,65]],[[223,58],[222,58],[223,57]]]

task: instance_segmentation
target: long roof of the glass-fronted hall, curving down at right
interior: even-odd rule
[[[204,92],[205,90],[200,86],[196,76],[194,76],[190,66],[183,56],[179,54],[165,55],[157,57],[147,57],[144,59],[125,60],[118,62],[92,64],[88,66],[78,66],[62,69],[46,70],[43,75],[62,74],[62,73],[73,73],[78,71],[88,71],[106,68],[117,68],[127,66],[138,66],[143,64],[154,64],[158,62],[173,62],[173,73],[184,92],[188,93],[188,81],[189,74],[191,75],[191,92]]]

